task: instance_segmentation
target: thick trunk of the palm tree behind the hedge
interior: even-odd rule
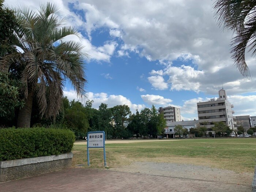
[[[33,104],[33,94],[32,90],[29,90],[27,98],[25,99],[25,106],[19,110],[17,127],[30,127],[31,111]]]

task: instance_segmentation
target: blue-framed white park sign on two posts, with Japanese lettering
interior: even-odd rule
[[[88,161],[88,166],[90,165],[89,148],[103,148],[104,166],[107,166],[106,153],[105,153],[105,132],[104,131],[94,131],[94,132],[88,132],[87,133],[87,161]]]

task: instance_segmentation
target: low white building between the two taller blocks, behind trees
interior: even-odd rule
[[[176,122],[167,122],[167,127],[165,128],[166,138],[175,138],[174,128],[175,125],[181,125],[183,128],[187,128],[188,131],[190,128],[196,128],[199,125],[199,120],[193,121],[176,121]]]

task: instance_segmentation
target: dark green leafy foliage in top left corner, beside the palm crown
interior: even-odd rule
[[[0,0],[0,60],[6,54],[14,53],[14,29],[17,20],[14,11],[4,7],[4,0]]]

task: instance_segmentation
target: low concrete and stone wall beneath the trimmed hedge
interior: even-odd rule
[[[0,161],[0,181],[10,181],[22,177],[71,167],[72,153],[44,157]]]

